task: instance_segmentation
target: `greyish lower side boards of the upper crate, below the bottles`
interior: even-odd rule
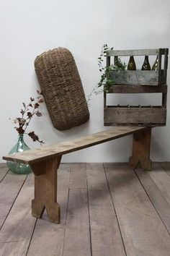
[[[115,85],[164,85],[164,70],[120,70],[112,72]]]

